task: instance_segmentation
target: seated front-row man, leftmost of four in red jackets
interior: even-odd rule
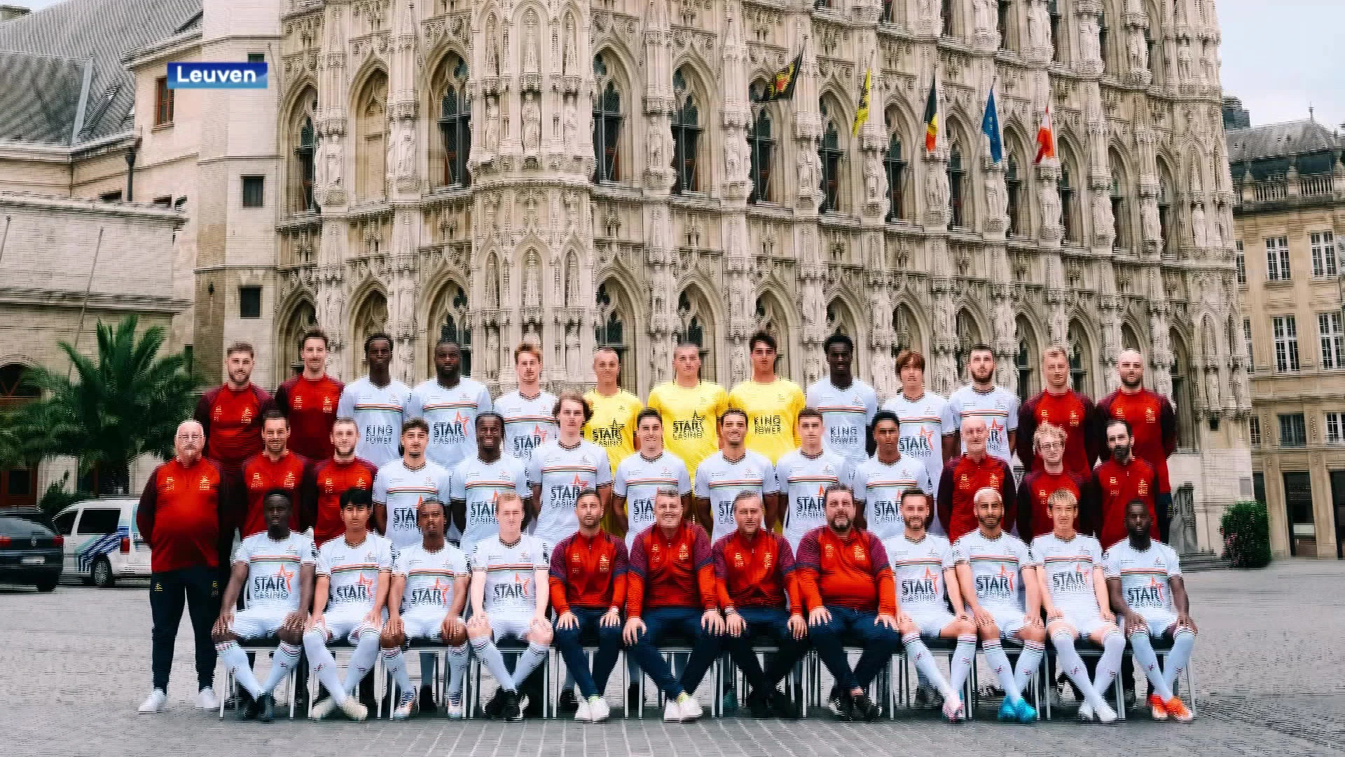
[[[574,719],[601,723],[611,710],[603,692],[621,652],[621,605],[625,603],[625,541],[609,536],[603,521],[597,489],[580,492],[574,517],[580,529],[555,546],[551,554],[551,606],[555,636],[551,645],[565,657],[565,668],[580,686]],[[597,653],[589,671],[582,634],[597,637]]]

